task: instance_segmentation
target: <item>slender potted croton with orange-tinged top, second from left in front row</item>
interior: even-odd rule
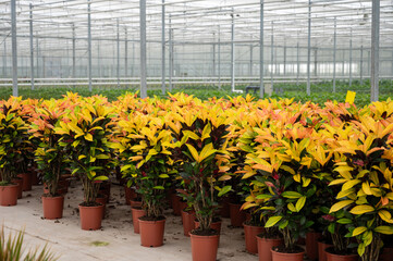
[[[33,137],[40,141],[36,149],[36,162],[48,189],[48,192],[41,197],[44,217],[48,220],[63,216],[64,196],[58,192],[58,188],[61,174],[66,166],[66,159],[65,150],[59,144],[62,135],[56,133],[54,128],[61,127],[60,122],[69,105],[61,100],[44,101],[36,109],[29,130]]]

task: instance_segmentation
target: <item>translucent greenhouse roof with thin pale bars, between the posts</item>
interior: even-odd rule
[[[91,38],[138,41],[138,0],[20,0],[16,1],[19,45],[29,41],[30,14],[33,34],[58,47],[58,39],[86,39],[90,2]],[[232,22],[235,42],[258,42],[259,0],[147,0],[147,41],[160,42],[162,7],[165,30],[172,28],[179,44],[231,41]],[[310,13],[309,13],[310,7]],[[273,32],[274,41],[286,46],[307,46],[308,17],[311,18],[311,46],[332,47],[334,21],[337,47],[369,47],[371,42],[371,1],[365,0],[265,0],[265,45]],[[30,13],[32,11],[32,13]],[[0,1],[2,42],[11,33],[10,1]],[[380,1],[380,46],[393,46],[393,0]],[[118,27],[119,23],[119,27]],[[168,38],[168,33],[167,33]],[[19,52],[28,52],[28,48]]]

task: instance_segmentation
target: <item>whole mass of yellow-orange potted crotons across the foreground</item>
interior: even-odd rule
[[[183,198],[188,215],[198,220],[191,232],[193,260],[216,260],[213,223],[225,199],[243,203],[249,215],[246,234],[253,225],[262,232],[259,240],[283,238],[272,251],[274,260],[284,252],[302,260],[296,241],[310,232],[331,240],[328,254],[378,260],[383,237],[393,234],[390,100],[357,109],[250,97],[202,102],[183,94],[168,100],[125,95],[108,102],[67,94],[60,100],[11,98],[1,105],[1,127],[9,129],[0,144],[1,185],[12,183],[19,166],[13,162],[21,162],[9,157],[29,159],[45,174],[45,196],[53,200],[61,174],[70,169],[83,183],[85,229],[100,227],[100,219],[84,224],[84,208],[102,216],[97,194],[116,169],[142,196],[143,246],[162,245],[168,191]],[[158,239],[145,238],[153,225]],[[211,241],[201,243],[206,238]],[[256,239],[253,235],[248,251],[257,251]],[[202,250],[194,251],[200,245]],[[311,259],[315,248],[307,248]],[[270,260],[267,249],[261,260]]]

